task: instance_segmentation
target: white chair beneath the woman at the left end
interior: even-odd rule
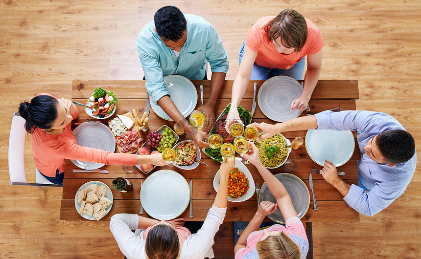
[[[12,125],[10,126],[9,135],[9,176],[10,185],[29,185],[29,186],[46,186],[63,187],[60,184],[54,184],[48,181],[35,168],[35,183],[26,182],[25,165],[23,159],[23,150],[25,145],[26,130],[24,128],[25,120],[19,113],[13,113]]]

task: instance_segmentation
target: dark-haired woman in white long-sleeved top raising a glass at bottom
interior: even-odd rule
[[[116,214],[111,217],[110,229],[118,247],[128,259],[203,259],[213,245],[219,226],[225,218],[228,200],[228,175],[235,158],[224,159],[221,180],[215,201],[196,234],[183,227],[184,218],[157,220],[137,214]],[[131,229],[145,231],[136,235]]]

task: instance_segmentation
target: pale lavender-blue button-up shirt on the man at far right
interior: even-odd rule
[[[417,153],[407,162],[392,167],[375,162],[364,152],[364,146],[378,133],[390,129],[405,130],[396,119],[385,113],[365,110],[323,111],[315,116],[317,129],[358,129],[357,141],[361,153],[358,177],[370,192],[366,193],[352,184],[344,197],[351,208],[361,214],[373,216],[403,194],[414,175]]]

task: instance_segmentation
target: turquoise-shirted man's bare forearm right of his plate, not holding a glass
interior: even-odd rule
[[[198,110],[202,111],[206,115],[206,125],[203,131],[207,132],[213,126],[215,121],[215,104],[216,100],[218,100],[219,92],[222,89],[222,86],[225,82],[225,76],[227,73],[222,72],[213,72],[211,77],[211,89],[210,89],[210,96],[208,102],[205,105],[198,108]]]

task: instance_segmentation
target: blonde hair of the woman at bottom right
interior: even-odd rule
[[[258,241],[256,251],[259,259],[301,259],[300,247],[283,232]]]

